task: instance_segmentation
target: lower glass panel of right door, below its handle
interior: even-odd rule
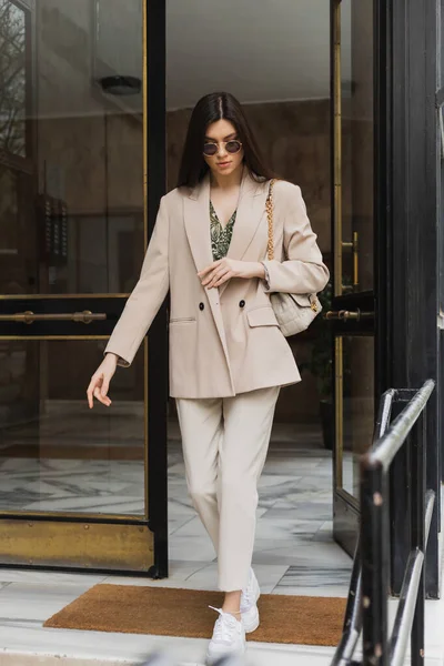
[[[359,500],[359,457],[374,428],[374,337],[342,339],[342,487]]]

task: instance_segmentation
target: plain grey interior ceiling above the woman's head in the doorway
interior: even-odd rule
[[[167,0],[167,40],[169,109],[330,95],[330,0]]]

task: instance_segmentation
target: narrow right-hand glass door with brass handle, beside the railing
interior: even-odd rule
[[[375,418],[374,7],[332,0],[334,537],[353,554]]]

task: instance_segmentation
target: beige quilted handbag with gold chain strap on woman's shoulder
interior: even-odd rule
[[[274,259],[273,242],[273,185],[270,182],[269,196],[266,199],[266,216],[269,220],[268,259]],[[322,305],[316,294],[285,294],[274,292],[270,294],[271,305],[282,333],[285,337],[305,331],[322,311]]]

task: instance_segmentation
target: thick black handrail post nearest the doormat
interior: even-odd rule
[[[386,473],[370,456],[361,460],[361,558],[363,666],[389,666],[390,587]]]

